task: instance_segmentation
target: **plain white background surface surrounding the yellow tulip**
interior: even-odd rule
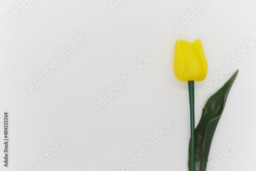
[[[41,170],[119,171],[140,148],[146,155],[130,170],[187,170],[188,90],[173,72],[178,38],[201,39],[208,61],[206,79],[195,82],[196,124],[206,100],[240,70],[209,162],[225,156],[228,144],[239,148],[218,169],[210,164],[207,169],[256,170],[256,45],[236,65],[227,61],[243,49],[246,39],[256,41],[255,1],[206,0],[178,32],[174,23],[181,23],[182,14],[198,2],[126,0],[113,10],[108,0],[37,0],[8,27],[4,17],[11,17],[20,2],[1,0],[0,119],[5,111],[10,119],[9,167],[3,166],[1,143],[1,170],[33,170],[39,165]],[[80,33],[87,39],[61,61],[58,51]],[[145,55],[152,60],[126,83],[121,75]],[[30,93],[27,83],[53,60],[58,68]],[[198,88],[204,89],[206,81],[214,79],[212,72],[222,66],[228,72],[200,97]],[[95,115],[92,104],[98,105],[99,96],[117,82],[124,89]],[[144,141],[160,131],[163,121],[175,126],[149,149]],[[39,157],[62,137],[69,143],[45,165]]]

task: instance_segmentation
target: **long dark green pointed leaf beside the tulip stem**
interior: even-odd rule
[[[216,127],[224,110],[228,93],[237,75],[238,70],[221,89],[207,100],[204,106],[202,117],[195,129],[195,171],[206,170],[211,141],[212,138],[214,138]],[[188,150],[188,170],[190,171],[190,141]]]

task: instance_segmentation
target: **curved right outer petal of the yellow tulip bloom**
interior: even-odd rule
[[[207,75],[207,70],[208,70],[208,65],[207,65],[207,60],[204,54],[204,49],[203,49],[203,44],[200,39],[196,39],[192,45],[196,48],[197,52],[199,53],[201,57],[201,61],[203,63],[203,68],[204,68],[204,74],[201,75],[201,77],[197,81],[203,81],[206,78]]]

